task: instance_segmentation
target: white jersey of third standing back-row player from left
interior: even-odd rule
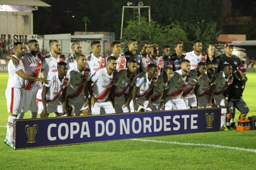
[[[49,53],[44,57],[43,69],[44,69],[44,77],[52,77],[55,74],[58,74],[58,62],[63,61],[60,55],[58,55],[57,59],[52,56],[52,53]]]

